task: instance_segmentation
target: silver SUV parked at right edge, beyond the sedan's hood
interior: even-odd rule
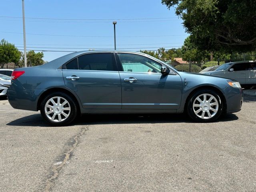
[[[234,79],[243,88],[256,86],[256,62],[253,61],[225,63],[215,71],[205,72],[204,74]]]

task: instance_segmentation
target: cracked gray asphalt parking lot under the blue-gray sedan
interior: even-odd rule
[[[0,191],[256,191],[256,96],[218,122],[87,115],[51,127],[0,100]]]

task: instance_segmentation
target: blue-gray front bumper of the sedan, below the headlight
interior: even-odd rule
[[[241,110],[244,100],[244,92],[242,88],[228,86],[224,89],[224,96],[226,98],[226,111],[228,113],[234,113]]]

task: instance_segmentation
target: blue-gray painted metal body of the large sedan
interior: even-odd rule
[[[73,94],[78,101],[81,113],[174,113],[183,112],[189,94],[199,87],[210,86],[218,89],[224,96],[227,112],[239,111],[243,92],[227,84],[228,78],[208,76],[188,72],[179,72],[172,66],[151,56],[162,66],[172,70],[169,75],[106,72],[106,71],[74,71],[62,70],[62,65],[81,54],[103,51],[74,52],[48,62],[42,66],[19,68],[25,73],[8,89],[8,100],[12,107],[24,110],[39,110],[40,96],[47,90],[59,88]],[[114,52],[104,51],[104,52]],[[118,52],[118,51],[116,51]],[[124,51],[122,51],[124,52]],[[65,77],[79,75],[81,80],[68,82]],[[138,81],[126,84],[124,78],[135,76]],[[104,77],[104,78],[102,78]],[[186,79],[186,84],[185,80]]]

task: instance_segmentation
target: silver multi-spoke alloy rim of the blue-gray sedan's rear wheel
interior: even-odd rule
[[[44,112],[47,118],[53,122],[62,122],[70,115],[70,104],[63,97],[50,98],[45,106]]]

